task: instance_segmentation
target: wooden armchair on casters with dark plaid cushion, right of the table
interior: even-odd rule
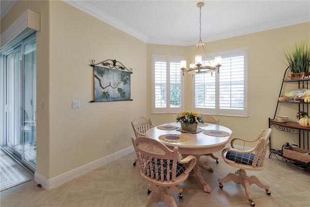
[[[268,185],[264,185],[256,176],[247,175],[246,173],[246,170],[261,171],[264,169],[264,160],[269,146],[270,133],[271,128],[262,130],[257,145],[251,150],[244,151],[236,148],[226,148],[222,151],[222,158],[224,161],[238,168],[238,170],[235,173],[226,175],[224,178],[218,178],[219,187],[223,188],[222,183],[227,183],[229,181],[241,184],[245,188],[251,207],[255,206],[255,202],[252,200],[253,195],[249,189],[251,184],[256,184],[258,187],[265,189],[267,195],[271,194]],[[244,139],[235,138],[232,140],[232,146],[233,142],[236,140],[247,142]]]

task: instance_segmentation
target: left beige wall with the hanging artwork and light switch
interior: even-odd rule
[[[3,21],[13,22],[11,18],[26,9],[41,14],[37,173],[51,179],[132,146],[130,122],[138,115],[146,116],[147,44],[62,1],[18,1],[8,13],[10,18]],[[1,31],[5,29],[1,21]],[[92,59],[96,63],[116,59],[133,69],[133,101],[90,103]],[[80,101],[80,109],[71,109],[73,100]]]

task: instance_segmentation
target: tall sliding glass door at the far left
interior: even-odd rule
[[[32,172],[36,168],[35,33],[1,51],[5,104],[2,147]]]

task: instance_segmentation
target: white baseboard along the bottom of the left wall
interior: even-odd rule
[[[76,168],[72,171],[69,171],[67,173],[64,173],[62,175],[59,175],[57,177],[46,179],[39,173],[34,173],[34,181],[41,184],[41,186],[46,190],[51,190],[53,188],[56,188],[57,186],[60,186],[74,178],[77,178],[78,176],[84,175],[85,173],[88,173],[98,167],[101,167],[105,164],[108,164],[109,162],[119,159],[131,152],[134,151],[134,147],[130,146],[125,148],[124,150],[121,150],[119,152],[113,153],[111,155],[108,155],[107,157],[104,157],[102,159],[95,160],[91,163],[88,163],[84,166],[81,166],[79,168]]]

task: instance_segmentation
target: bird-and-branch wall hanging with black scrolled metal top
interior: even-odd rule
[[[103,101],[128,101],[130,97],[130,74],[132,68],[126,68],[121,62],[107,60],[94,64],[92,60],[94,76],[94,100]],[[99,66],[99,64],[103,64]],[[126,71],[127,70],[127,71]]]

